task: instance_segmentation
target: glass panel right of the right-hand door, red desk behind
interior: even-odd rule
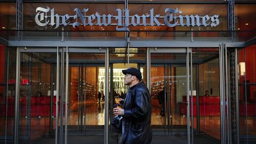
[[[220,140],[219,50],[194,49],[193,60],[199,62],[200,132]]]

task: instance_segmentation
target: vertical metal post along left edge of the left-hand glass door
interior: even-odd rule
[[[69,69],[69,53],[68,47],[66,47],[66,97],[65,97],[65,144],[67,144],[67,135],[68,135],[68,69]]]

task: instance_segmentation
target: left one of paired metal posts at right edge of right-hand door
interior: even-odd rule
[[[187,144],[190,144],[190,84],[189,84],[189,53],[187,47],[187,56],[186,56],[186,81],[187,81]]]

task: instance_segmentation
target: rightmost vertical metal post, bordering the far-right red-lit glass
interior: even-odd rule
[[[236,142],[240,143],[239,95],[238,95],[238,50],[235,49],[235,92],[236,92]]]

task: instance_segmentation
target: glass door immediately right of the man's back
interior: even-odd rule
[[[188,108],[191,72],[190,65],[186,65],[189,64],[187,49],[165,50],[149,50],[152,129],[155,134],[180,135],[179,141],[187,143],[191,129],[187,111],[191,109]]]

